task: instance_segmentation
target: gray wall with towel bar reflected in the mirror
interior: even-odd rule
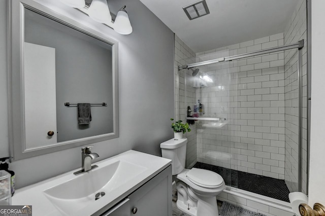
[[[25,42],[55,48],[57,141],[113,132],[112,46],[27,9]],[[107,106],[91,106],[90,124],[78,125],[77,106],[64,102]]]

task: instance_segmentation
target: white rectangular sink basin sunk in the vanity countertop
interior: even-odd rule
[[[143,166],[119,160],[82,173],[68,182],[43,192],[61,213],[72,215],[75,213],[75,209],[81,209],[96,202],[96,193],[104,192],[105,195],[109,195],[111,191],[133,181],[145,170],[146,168]]]

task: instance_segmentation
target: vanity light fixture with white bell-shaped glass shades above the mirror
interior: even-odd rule
[[[133,31],[125,7],[123,6],[117,15],[109,10],[107,0],[60,0],[69,7],[76,8],[87,14],[96,22],[103,23],[113,28],[119,34],[131,34]],[[81,6],[83,4],[83,6]]]

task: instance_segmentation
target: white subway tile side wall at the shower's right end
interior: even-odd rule
[[[307,19],[306,1],[300,0],[284,32],[284,44],[304,39],[303,52],[303,193],[307,194]],[[284,52],[285,97],[285,182],[290,192],[298,189],[298,52]]]

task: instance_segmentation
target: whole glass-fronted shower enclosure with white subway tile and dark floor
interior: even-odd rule
[[[219,173],[228,190],[286,202],[289,192],[307,194],[308,82],[303,49],[301,40],[183,60],[177,109],[194,131],[187,137],[187,168]]]

